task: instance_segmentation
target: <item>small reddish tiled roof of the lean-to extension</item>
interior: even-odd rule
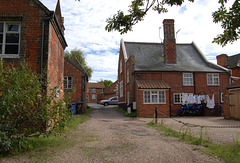
[[[163,80],[138,80],[136,84],[139,89],[169,89],[170,86]]]

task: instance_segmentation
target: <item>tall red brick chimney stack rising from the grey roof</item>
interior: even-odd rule
[[[176,39],[174,19],[163,20],[164,29],[164,60],[167,64],[176,64]]]

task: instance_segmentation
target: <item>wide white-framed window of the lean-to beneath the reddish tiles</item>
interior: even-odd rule
[[[144,91],[144,103],[145,104],[165,104],[166,96],[165,91]]]

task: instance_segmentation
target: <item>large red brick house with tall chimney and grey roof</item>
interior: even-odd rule
[[[196,44],[176,44],[174,20],[163,21],[164,42],[121,40],[118,64],[119,105],[130,107],[141,117],[177,115],[183,93],[221,103],[229,84],[228,69],[207,61]],[[211,108],[214,107],[213,105]],[[213,114],[206,108],[205,115]]]

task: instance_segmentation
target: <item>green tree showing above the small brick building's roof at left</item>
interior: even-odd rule
[[[71,57],[75,57],[79,63],[82,65],[82,67],[85,69],[86,73],[88,74],[88,77],[91,78],[92,77],[92,68],[89,67],[86,63],[85,60],[85,56],[83,55],[83,52],[80,49],[73,49],[70,52],[69,51],[65,51],[64,53],[64,57],[65,58],[71,58]]]

